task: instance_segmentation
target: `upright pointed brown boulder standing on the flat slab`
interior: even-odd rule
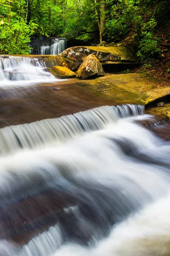
[[[80,65],[77,70],[77,78],[86,79],[91,76],[104,76],[105,72],[102,68],[102,64],[96,58],[95,55],[90,54]]]

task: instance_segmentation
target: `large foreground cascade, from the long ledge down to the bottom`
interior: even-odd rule
[[[105,106],[1,129],[0,255],[169,255],[170,143],[150,118]]]

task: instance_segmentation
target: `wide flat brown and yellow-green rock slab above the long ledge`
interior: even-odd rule
[[[76,78],[6,90],[0,88],[0,127],[30,123],[102,105],[145,105],[170,94],[160,80],[139,73]],[[162,100],[161,100],[162,101]]]

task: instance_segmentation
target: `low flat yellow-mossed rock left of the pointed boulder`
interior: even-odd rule
[[[76,77],[76,74],[69,70],[67,67],[54,66],[48,67],[47,69],[51,74],[55,76],[55,78],[65,79]]]

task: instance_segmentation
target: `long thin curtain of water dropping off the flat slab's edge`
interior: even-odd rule
[[[83,132],[104,128],[119,118],[142,115],[144,106],[104,106],[92,110],[45,119],[30,124],[11,125],[0,129],[0,153],[7,154],[18,148],[34,148],[43,144],[65,142]]]

